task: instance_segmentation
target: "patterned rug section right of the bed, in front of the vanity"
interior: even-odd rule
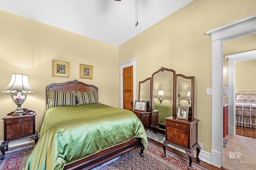
[[[148,143],[148,151],[144,151],[144,158],[139,149],[131,150],[120,158],[98,170],[188,170],[189,160],[166,150],[167,158],[163,158],[161,147]],[[192,162],[193,170],[208,170]]]

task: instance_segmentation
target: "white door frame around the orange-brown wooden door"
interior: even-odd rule
[[[124,63],[118,64],[120,65],[120,108],[123,109],[123,69],[126,67],[133,66],[132,74],[133,74],[133,103],[136,99],[136,60],[137,59],[131,59],[129,61],[125,61]]]

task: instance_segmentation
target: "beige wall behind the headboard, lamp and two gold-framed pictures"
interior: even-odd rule
[[[118,107],[118,47],[0,10],[0,90],[12,73],[27,74],[36,93],[27,93],[23,108],[36,111],[40,132],[46,105],[45,88],[77,79],[99,88],[101,103]],[[52,59],[70,62],[70,76],[52,77]],[[80,79],[80,63],[93,65],[93,79]],[[111,99],[111,100],[110,100]],[[0,118],[14,111],[11,93],[0,92]],[[3,140],[0,121],[0,140]]]

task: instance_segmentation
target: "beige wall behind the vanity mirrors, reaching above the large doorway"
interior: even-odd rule
[[[255,0],[196,0],[119,46],[119,63],[137,59],[137,84],[161,67],[195,76],[198,141],[207,152],[212,140],[212,98],[206,95],[212,86],[212,46],[205,32],[251,16],[255,7]]]

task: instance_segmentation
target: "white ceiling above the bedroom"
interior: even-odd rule
[[[119,46],[194,0],[0,0],[0,10]]]

